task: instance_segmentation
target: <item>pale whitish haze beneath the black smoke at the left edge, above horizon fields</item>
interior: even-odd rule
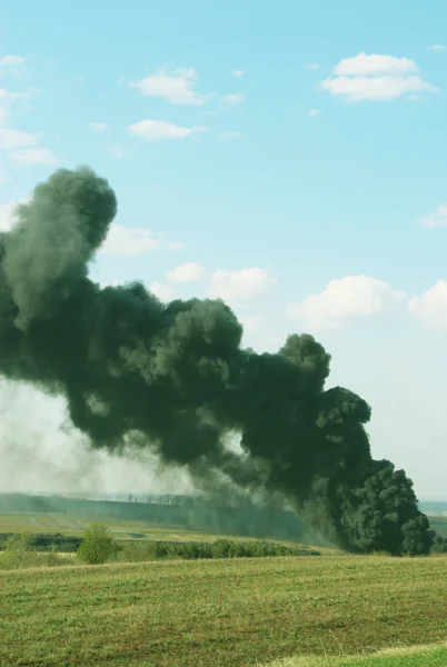
[[[190,492],[183,470],[153,455],[96,451],[69,426],[64,400],[22,382],[0,381],[0,492]]]

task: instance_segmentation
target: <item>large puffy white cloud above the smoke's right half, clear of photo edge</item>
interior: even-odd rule
[[[405,300],[381,280],[368,276],[347,276],[331,280],[326,289],[289,306],[290,317],[318,329],[338,329],[351,317],[366,317],[388,311]]]

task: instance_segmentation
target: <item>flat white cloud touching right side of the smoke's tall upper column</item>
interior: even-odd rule
[[[123,227],[111,225],[100,252],[103,255],[132,257],[158,249],[177,250],[179,243],[170,243],[153,236],[145,227]]]

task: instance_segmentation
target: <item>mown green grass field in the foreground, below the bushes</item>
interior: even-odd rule
[[[237,667],[298,656],[290,667],[407,667],[408,655],[375,654],[445,641],[446,566],[364,556],[3,571],[0,665]],[[425,659],[414,665],[447,664]]]

